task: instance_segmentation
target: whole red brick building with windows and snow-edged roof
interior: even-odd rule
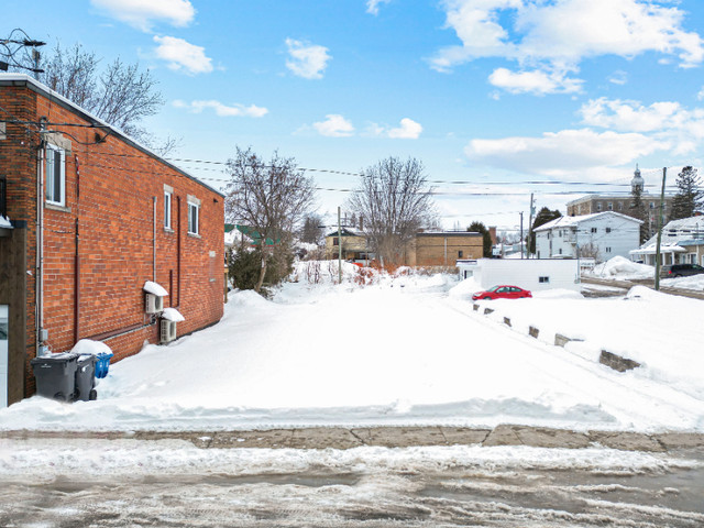
[[[223,196],[18,74],[0,75],[0,217],[8,404],[33,394],[44,346],[103,341],[114,362],[160,342],[146,282],[177,336],[222,317]]]

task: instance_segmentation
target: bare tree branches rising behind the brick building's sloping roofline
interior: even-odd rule
[[[178,146],[172,138],[156,140],[140,127],[140,122],[154,116],[164,106],[157,81],[150,70],[140,70],[138,63],[125,64],[116,58],[103,69],[101,59],[80,44],[65,50],[56,44],[53,52],[42,56],[38,64],[29,55],[24,67],[38,66],[37,80],[66,99],[88,110],[123,132],[165,156]]]

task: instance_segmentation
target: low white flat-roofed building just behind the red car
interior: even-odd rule
[[[548,282],[540,282],[548,277]],[[530,290],[566,288],[579,290],[579,267],[570,258],[480,258],[474,279],[483,288],[510,284]]]

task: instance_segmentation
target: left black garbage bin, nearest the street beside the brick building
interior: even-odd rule
[[[62,402],[73,402],[76,392],[78,354],[42,355],[30,362],[36,380],[36,394]]]

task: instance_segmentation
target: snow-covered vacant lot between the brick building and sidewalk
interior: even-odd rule
[[[216,327],[111,365],[98,402],[33,397],[1,410],[0,428],[704,431],[700,300],[645,287],[608,299],[547,292],[482,301],[495,310],[485,316],[471,279],[411,274],[361,287],[305,276],[273,300],[231,294]],[[556,346],[556,332],[582,341]],[[641,366],[615,372],[598,363],[602,349]]]

